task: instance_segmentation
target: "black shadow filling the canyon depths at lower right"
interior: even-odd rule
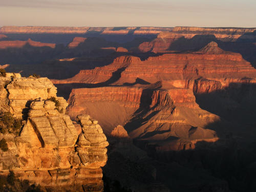
[[[129,163],[133,167],[140,167],[143,172],[141,165],[143,164],[154,167],[156,177],[153,181],[165,184],[170,191],[254,191],[256,187],[255,91],[255,84],[231,83],[223,90],[196,94],[197,103],[202,109],[221,117],[219,121],[205,126],[217,132],[220,137],[218,141],[199,141],[194,150],[158,151],[157,145],[148,145],[147,141],[134,139],[132,145],[145,151],[149,158],[137,161],[115,151],[115,147],[120,147],[120,144],[111,143],[108,152],[109,161],[103,167],[105,176],[108,177],[110,170],[113,170],[110,175],[119,174],[120,184],[127,187],[122,183],[121,178],[129,177],[129,180],[132,180],[130,170],[124,168],[121,173],[117,170],[127,167]],[[142,97],[140,109],[136,112],[140,115],[135,116],[124,126],[128,132],[130,130],[127,127],[136,129],[143,124],[145,119],[140,119],[140,116],[150,109],[151,101],[147,97],[151,95],[150,93],[151,91],[147,90],[144,93],[146,98]],[[124,144],[123,148],[127,148],[127,144]],[[113,169],[113,166],[117,170]],[[140,175],[139,172],[135,174],[135,177]],[[152,177],[152,173],[144,172],[138,181],[143,185],[150,185],[152,179],[147,181],[145,179],[147,177]]]

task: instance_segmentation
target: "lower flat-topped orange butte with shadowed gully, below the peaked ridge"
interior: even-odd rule
[[[120,135],[118,123],[122,123],[131,138],[151,144],[158,143],[163,146],[158,148],[159,151],[167,150],[164,148],[167,146],[168,150],[187,150],[195,148],[198,141],[218,140],[214,131],[203,127],[219,117],[200,109],[193,90],[190,89],[73,89],[68,102],[68,113],[71,117],[79,113],[89,113],[97,117],[105,133],[112,137]],[[117,127],[112,130],[114,126]],[[125,133],[121,135],[128,136]],[[176,139],[170,142],[169,137]]]

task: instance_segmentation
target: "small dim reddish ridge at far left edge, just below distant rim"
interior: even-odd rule
[[[50,47],[55,48],[55,44],[49,44],[45,42],[37,42],[33,41],[30,38],[27,41],[22,40],[3,40],[0,41],[0,49],[7,49],[7,48],[22,48],[25,45],[30,45],[32,47]]]

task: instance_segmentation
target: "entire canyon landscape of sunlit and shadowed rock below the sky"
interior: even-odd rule
[[[25,120],[20,135],[2,135],[15,162],[1,173],[53,191],[250,191],[255,30],[2,27],[0,45],[38,46],[0,50],[15,72],[0,106]]]

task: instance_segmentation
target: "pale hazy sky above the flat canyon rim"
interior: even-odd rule
[[[0,0],[0,26],[256,27],[256,0]]]

